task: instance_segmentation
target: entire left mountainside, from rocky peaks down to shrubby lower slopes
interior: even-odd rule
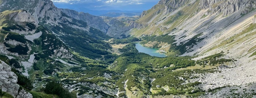
[[[111,37],[105,35],[104,32],[88,26],[86,22],[67,16],[56,8],[51,0],[1,0],[0,4],[0,59],[10,65],[12,67],[11,71],[16,74],[16,76],[12,75],[11,71],[8,70],[8,76],[14,76],[13,80],[12,78],[8,79],[8,77],[5,77],[5,70],[1,70],[0,76],[6,78],[3,78],[4,81],[0,81],[1,95],[5,94],[2,91],[10,93],[12,97],[31,97],[31,94],[33,96],[35,94],[41,95],[41,93],[31,92],[30,90],[33,87],[36,90],[43,89],[43,85],[55,80],[53,77],[58,77],[59,72],[72,72],[71,70],[74,68],[75,70],[77,70],[76,68],[79,69],[78,64],[79,66],[82,64],[84,68],[87,67],[87,70],[93,68],[94,71],[108,73],[102,70],[105,70],[105,65],[109,64],[107,61],[111,62],[113,60],[97,61],[97,59],[104,59],[104,56],[105,58],[115,57],[108,52],[111,47],[104,40]],[[96,75],[96,73],[93,74]],[[93,74],[89,74],[89,76],[95,76]],[[12,86],[8,84],[7,80],[11,80],[9,84]],[[85,82],[84,80],[86,79],[83,79],[82,82],[84,86],[94,84],[94,82]],[[32,84],[31,81],[34,83]],[[61,83],[70,80],[64,81]],[[79,83],[81,81],[76,84]],[[97,96],[105,97],[112,96],[112,92],[115,91],[114,88],[106,91],[110,88],[94,87],[81,88],[79,91],[94,90],[93,93],[87,96],[93,96],[97,93]],[[70,89],[73,88],[70,87]],[[28,91],[30,92],[28,93]],[[65,91],[62,92],[62,96],[69,94]],[[27,93],[31,94],[26,95]],[[60,93],[58,94],[61,97]],[[84,93],[81,91],[79,95],[82,94]],[[46,96],[51,95],[45,95],[44,97]]]

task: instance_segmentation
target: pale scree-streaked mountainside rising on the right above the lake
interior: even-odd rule
[[[196,75],[200,77],[196,81],[202,83],[200,88],[203,90],[217,91],[205,93],[203,98],[235,97],[238,93],[249,97],[250,94],[243,93],[240,88],[235,90],[237,93],[231,89],[235,86],[255,88],[256,77],[252,75],[255,74],[256,62],[255,7],[255,0],[160,0],[135,21],[145,27],[133,28],[130,34],[144,40],[141,42],[144,46],[159,48],[159,51],[166,52],[168,56],[196,56],[192,60],[202,60],[205,64],[209,61],[204,60],[219,54],[223,55],[222,59],[235,59],[231,64],[218,67],[217,71],[221,71],[220,73]],[[156,80],[153,83],[159,83]],[[173,86],[166,86],[158,86],[163,91],[153,87],[151,92],[156,95],[164,92],[162,95],[175,94],[172,92],[175,90]]]

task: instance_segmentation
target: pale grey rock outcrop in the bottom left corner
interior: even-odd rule
[[[11,72],[11,67],[0,60],[0,88],[15,97],[18,94],[18,76]]]

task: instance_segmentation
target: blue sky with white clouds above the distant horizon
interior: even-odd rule
[[[52,0],[57,8],[67,8],[78,12],[87,10],[145,11],[159,0]]]

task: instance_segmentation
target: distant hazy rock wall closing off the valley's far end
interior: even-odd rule
[[[114,38],[126,38],[129,37],[130,31],[134,27],[138,27],[141,24],[134,22],[136,18],[111,18],[107,16],[99,17],[93,16],[84,12],[77,12],[74,10],[60,9],[68,16],[84,21],[88,23],[90,27],[94,27],[106,33],[107,35]]]

